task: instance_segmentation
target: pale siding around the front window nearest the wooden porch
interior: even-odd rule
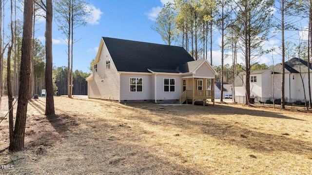
[[[164,78],[175,78],[175,92],[164,92]],[[182,94],[182,79],[179,75],[157,75],[156,77],[157,100],[179,99]]]

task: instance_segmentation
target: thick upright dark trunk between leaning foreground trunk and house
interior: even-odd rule
[[[46,24],[45,24],[45,88],[46,105],[45,115],[54,115],[54,92],[53,92],[53,54],[52,54],[52,22],[53,22],[52,0],[46,0]]]

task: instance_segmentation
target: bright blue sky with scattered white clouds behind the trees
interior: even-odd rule
[[[74,70],[89,72],[89,65],[96,57],[101,37],[111,37],[118,39],[129,39],[143,42],[164,44],[160,35],[151,29],[155,24],[155,19],[161,8],[167,2],[174,0],[86,0],[89,8],[93,9],[92,17],[89,18],[86,26],[80,26],[75,29],[74,44]],[[9,5],[7,3],[7,5]],[[274,11],[276,13],[276,11]],[[9,13],[8,13],[9,14]],[[8,18],[8,15],[7,17]],[[6,25],[5,25],[6,26]],[[44,44],[44,19],[36,21],[35,37]],[[221,52],[220,33],[215,30],[213,38],[213,65],[220,65]],[[294,35],[298,38],[299,34]],[[307,35],[306,35],[307,36]],[[67,66],[67,43],[65,36],[58,30],[57,25],[53,25],[53,63],[54,66]],[[175,43],[174,43],[175,44]],[[267,48],[278,47],[280,39],[273,37],[266,41],[264,45]],[[231,52],[229,52],[230,54]],[[281,62],[280,51],[274,53],[274,64]],[[208,55],[210,55],[208,53]],[[243,63],[240,54],[238,62]],[[210,61],[210,58],[209,58]],[[262,56],[254,62],[266,63],[272,65],[272,54]],[[224,64],[232,64],[232,58],[225,58]]]

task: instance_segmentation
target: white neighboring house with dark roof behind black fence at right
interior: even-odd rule
[[[310,71],[311,63],[310,63]],[[273,86],[274,98],[281,98],[281,82],[282,82],[282,64],[278,63],[274,66],[274,74],[272,69],[251,71],[250,89],[251,97],[262,97],[272,99]],[[300,76],[301,74],[301,76]],[[273,81],[274,76],[274,81]],[[312,76],[312,74],[311,74]],[[302,79],[301,79],[302,77]],[[235,96],[245,96],[246,72],[240,72],[235,78]],[[303,81],[303,83],[302,83]],[[285,62],[285,101],[295,102],[304,99],[303,84],[305,86],[305,94],[309,99],[308,92],[308,62],[298,58],[292,58]],[[312,85],[312,84],[311,84]]]

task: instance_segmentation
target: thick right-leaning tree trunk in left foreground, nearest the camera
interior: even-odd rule
[[[21,151],[24,149],[26,115],[29,97],[33,11],[33,0],[24,0],[24,24],[20,64],[20,90],[16,122],[14,127],[14,138],[9,148],[11,151]]]

